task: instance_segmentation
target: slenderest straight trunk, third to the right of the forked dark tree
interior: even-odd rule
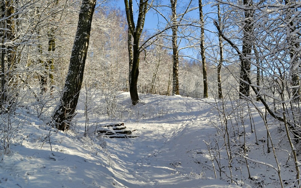
[[[219,20],[219,28],[221,28],[222,17],[221,17],[221,10],[220,10],[219,5],[217,5],[217,17],[218,17],[218,20]],[[222,77],[221,77],[221,69],[222,69],[223,61],[224,61],[223,42],[222,42],[222,36],[219,34],[219,63],[217,65],[217,86],[218,86],[219,99],[223,98],[223,94],[222,94]]]

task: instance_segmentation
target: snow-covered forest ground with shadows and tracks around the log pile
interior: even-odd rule
[[[127,92],[117,98],[122,101],[120,104],[130,102]],[[258,140],[255,141],[255,133],[251,133],[250,123],[247,123],[249,116],[245,117],[246,136],[235,135],[236,129],[243,131],[242,126],[237,125],[230,138],[232,144],[247,140],[248,157],[255,161],[247,161],[252,180],[248,178],[245,159],[237,154],[243,152],[237,150],[239,147],[233,147],[237,153],[231,162],[231,183],[225,144],[222,144],[222,135],[216,133],[220,120],[214,99],[201,101],[150,94],[141,94],[140,99],[140,104],[131,108],[128,105],[119,115],[127,129],[138,136],[136,138],[107,138],[93,134],[91,130],[116,121],[97,114],[97,110],[88,114],[90,131],[84,137],[83,101],[79,102],[75,128],[67,132],[56,132],[36,115],[31,115],[30,108],[23,108],[14,122],[20,122],[17,132],[23,132],[11,138],[10,153],[4,155],[2,150],[0,188],[280,187],[278,175],[271,167],[276,166],[273,154],[267,153],[264,141],[259,141],[266,136],[266,130],[256,112],[252,123]],[[97,109],[96,106],[101,104],[103,101],[95,95],[89,109]],[[275,136],[274,145],[279,143],[276,148],[283,168],[282,178],[289,182],[286,186],[292,186],[290,180],[294,179],[294,169],[292,162],[286,161],[288,153],[284,149],[288,145],[285,140],[277,142],[283,137],[276,132],[277,126],[270,127]],[[214,155],[217,144],[213,142],[218,138],[220,153]],[[216,160],[212,162],[214,156]],[[219,165],[223,171],[221,175]]]

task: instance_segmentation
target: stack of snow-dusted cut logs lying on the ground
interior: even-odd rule
[[[135,130],[133,130],[135,131]],[[132,135],[132,131],[126,130],[126,126],[124,123],[112,123],[106,124],[100,127],[99,130],[96,131],[99,135],[104,135],[109,138],[134,138],[138,137],[136,135]]]

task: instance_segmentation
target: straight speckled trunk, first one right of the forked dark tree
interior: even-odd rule
[[[178,66],[179,66],[179,56],[178,56],[178,43],[177,43],[177,0],[170,0],[171,10],[172,10],[172,95],[179,95],[179,77],[178,77]]]

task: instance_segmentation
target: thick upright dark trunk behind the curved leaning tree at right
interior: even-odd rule
[[[250,7],[252,5],[252,0],[244,0],[244,5]],[[251,62],[250,62],[250,55],[251,55],[251,32],[252,32],[252,17],[253,14],[251,10],[245,9],[244,10],[244,29],[243,29],[243,46],[242,46],[242,53],[244,57],[241,61],[241,67],[243,67],[246,72],[240,69],[240,83],[239,83],[239,97],[240,99],[244,99],[244,96],[250,95],[250,86],[247,82],[247,77],[250,73],[251,69]]]

